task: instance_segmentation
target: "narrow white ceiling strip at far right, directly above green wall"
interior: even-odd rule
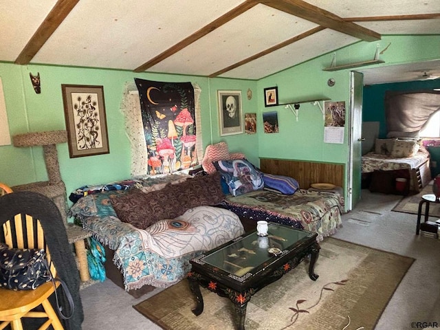
[[[440,34],[440,19],[375,21],[360,22],[358,24],[380,34]]]

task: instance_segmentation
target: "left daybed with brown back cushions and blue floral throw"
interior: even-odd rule
[[[78,188],[69,216],[105,245],[112,281],[140,296],[137,289],[179,282],[190,259],[244,233],[236,214],[210,206],[224,198],[216,177],[166,175]]]

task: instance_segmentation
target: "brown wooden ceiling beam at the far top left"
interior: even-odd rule
[[[41,23],[40,27],[30,41],[25,45],[17,59],[15,60],[15,64],[26,65],[32,61],[32,58],[36,55],[36,53],[41,50],[41,47],[45,44],[47,39],[52,36],[52,33],[60,26],[63,20],[67,17],[69,12],[74,9],[76,3],[79,0],[58,0],[54,8],[47,14],[47,17]]]

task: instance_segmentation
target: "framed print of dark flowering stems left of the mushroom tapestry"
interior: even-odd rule
[[[109,153],[104,87],[61,85],[70,158]]]

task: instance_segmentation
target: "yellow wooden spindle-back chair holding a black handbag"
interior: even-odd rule
[[[17,194],[20,195],[20,193],[12,193],[0,197],[0,205],[2,199],[8,199],[6,197]],[[25,207],[23,210],[25,210]],[[45,249],[48,262],[51,265],[52,275],[56,276],[54,263],[50,263],[50,252],[45,243],[45,236],[39,219],[35,219],[24,212],[14,214],[12,219],[3,223],[0,229],[0,241],[8,244],[11,248]],[[59,283],[57,283],[57,287],[58,285]],[[54,292],[55,287],[52,281],[29,291],[13,291],[0,288],[0,329],[11,325],[12,330],[22,330],[22,318],[47,318],[39,329],[47,329],[50,325],[55,330],[64,329],[48,300]],[[33,311],[39,305],[43,306],[43,311]]]

